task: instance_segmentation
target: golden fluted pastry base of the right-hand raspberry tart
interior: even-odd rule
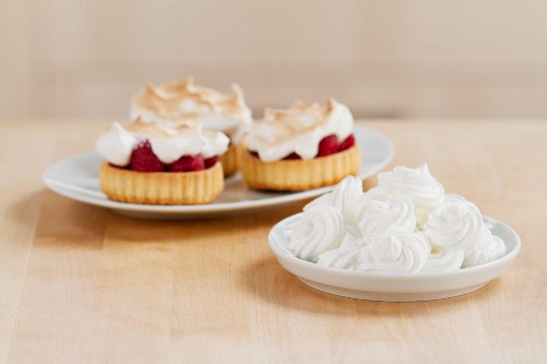
[[[313,160],[261,162],[248,150],[241,153],[240,169],[245,183],[254,189],[301,191],[335,185],[356,175],[361,165],[358,145]]]

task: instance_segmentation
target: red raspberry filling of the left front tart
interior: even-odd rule
[[[203,158],[201,154],[183,155],[171,164],[165,164],[154,154],[150,141],[140,142],[131,153],[128,169],[136,172],[193,172],[212,167],[219,157],[217,155]]]

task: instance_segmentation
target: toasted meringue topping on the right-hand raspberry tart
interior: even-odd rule
[[[291,153],[311,160],[323,138],[335,134],[341,142],[352,129],[353,116],[346,105],[334,99],[296,102],[288,109],[266,108],[264,120],[249,128],[247,148],[263,162],[279,161]]]

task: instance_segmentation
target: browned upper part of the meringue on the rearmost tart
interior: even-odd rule
[[[191,101],[193,106],[187,106],[188,101]],[[223,94],[195,85],[191,77],[182,82],[165,82],[160,86],[146,84],[133,98],[131,108],[131,118],[141,116],[147,121],[151,121],[149,118],[191,121],[210,114],[220,114],[243,124],[251,121],[251,111],[237,84],[232,84],[230,94]]]

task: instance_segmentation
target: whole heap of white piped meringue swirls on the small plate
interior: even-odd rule
[[[322,266],[398,273],[456,271],[505,253],[478,208],[444,195],[427,165],[395,167],[379,180],[363,192],[362,181],[350,176],[306,204],[289,227],[291,251]]]

